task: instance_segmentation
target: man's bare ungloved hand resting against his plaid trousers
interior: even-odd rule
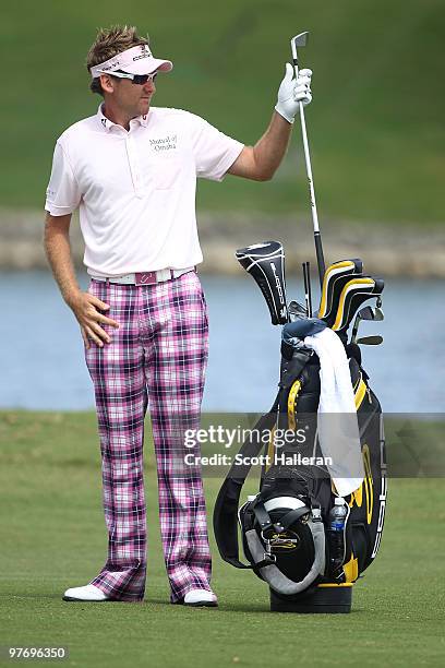
[[[69,300],[69,306],[81,325],[82,338],[85,347],[89,348],[91,342],[100,348],[105,343],[111,342],[111,336],[100,326],[101,324],[119,327],[119,323],[111,318],[107,318],[100,311],[108,311],[110,308],[105,301],[100,301],[89,293],[77,293]]]

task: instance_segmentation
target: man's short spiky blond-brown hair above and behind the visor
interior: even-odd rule
[[[133,25],[112,25],[109,28],[99,28],[86,57],[86,69],[89,72],[94,65],[100,64],[127,49],[144,44],[148,45],[148,39],[137,35],[137,29]],[[104,95],[98,76],[93,79],[89,90],[93,93]]]

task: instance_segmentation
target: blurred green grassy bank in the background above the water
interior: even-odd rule
[[[175,61],[156,105],[195,111],[248,144],[268,123],[288,39],[311,31],[303,61],[314,70],[308,124],[322,217],[443,222],[442,0],[9,3],[0,205],[43,206],[56,138],[99,102],[83,65],[95,29],[117,22],[149,31],[155,53]],[[203,182],[197,203],[279,215],[306,201],[294,138],[272,182]]]

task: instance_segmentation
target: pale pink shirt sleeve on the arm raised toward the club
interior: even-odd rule
[[[191,114],[192,143],[196,176],[222,181],[244,144],[224,134],[204,119]]]

